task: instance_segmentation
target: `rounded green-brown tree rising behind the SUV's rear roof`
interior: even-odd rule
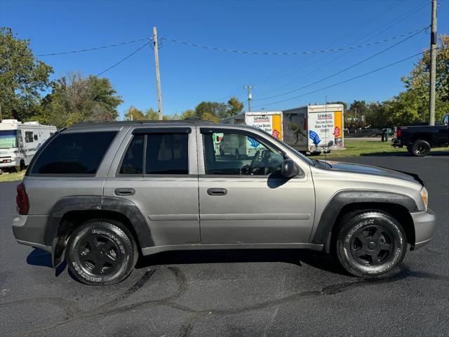
[[[52,92],[43,100],[41,121],[58,128],[78,121],[114,121],[123,103],[109,79],[69,73],[53,83]]]

